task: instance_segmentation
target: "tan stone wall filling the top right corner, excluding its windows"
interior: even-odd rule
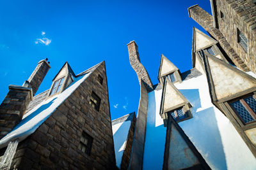
[[[217,0],[216,7],[221,33],[250,70],[256,73],[256,5],[246,0]],[[238,43],[237,29],[248,39],[247,51]]]

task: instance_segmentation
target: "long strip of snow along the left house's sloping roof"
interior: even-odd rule
[[[79,87],[79,85],[81,85],[81,83],[83,83],[84,80],[86,80],[86,78],[88,78],[91,73],[92,72],[78,76],[67,89],[61,92],[61,94],[50,97],[26,113],[21,122],[0,140],[0,148],[7,146],[9,141],[15,139],[22,141],[35,132],[36,129],[56,110],[56,108],[58,108],[58,106],[60,106],[61,103],[65,101],[65,99],[67,99],[68,96],[72,94],[72,92],[74,92],[74,90],[77,89],[77,87]]]

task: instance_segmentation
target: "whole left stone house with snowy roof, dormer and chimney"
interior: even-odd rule
[[[41,60],[22,87],[9,87],[0,168],[115,169],[105,62],[80,74],[66,62],[51,88],[33,97],[49,68]]]

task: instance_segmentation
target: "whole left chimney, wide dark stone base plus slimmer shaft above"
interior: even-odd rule
[[[49,68],[46,59],[40,60],[35,71],[29,77],[29,81],[25,81],[23,86],[9,86],[9,92],[0,105],[0,139],[12,131],[13,127],[22,120],[29,102],[33,100],[33,95]]]

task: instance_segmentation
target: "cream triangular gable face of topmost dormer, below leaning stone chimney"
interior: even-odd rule
[[[204,32],[193,27],[193,52],[197,52],[203,48],[207,48],[216,43],[218,43],[218,41],[212,39],[211,37],[204,34]]]

